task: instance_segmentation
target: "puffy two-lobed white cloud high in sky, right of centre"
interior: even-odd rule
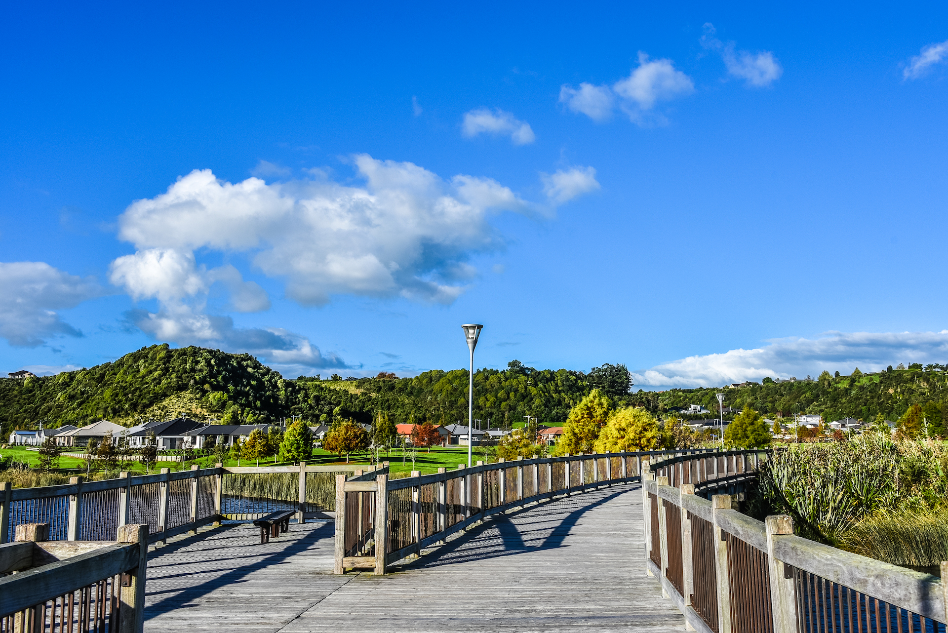
[[[639,65],[631,70],[629,77],[616,81],[611,87],[584,82],[576,89],[564,83],[559,88],[559,101],[597,122],[611,118],[617,105],[632,121],[645,125],[664,120],[651,112],[659,101],[689,95],[694,89],[691,78],[676,69],[674,62],[649,60],[646,53],[639,51]]]

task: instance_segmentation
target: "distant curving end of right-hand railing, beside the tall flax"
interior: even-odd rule
[[[705,498],[719,492],[730,495],[757,478],[761,462],[771,453],[763,449],[686,453],[653,462],[649,470],[657,477],[667,477],[672,486],[693,483],[695,494]]]

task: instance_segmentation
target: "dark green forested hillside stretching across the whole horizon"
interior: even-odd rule
[[[826,420],[851,416],[871,420],[882,413],[897,420],[908,407],[923,406],[929,423],[948,420],[948,371],[942,366],[910,366],[874,374],[855,373],[817,380],[775,382],[723,389],[726,407],[750,405],[771,417],[817,413]],[[631,392],[622,365],[592,371],[536,370],[519,361],[506,370],[474,374],[474,417],[484,427],[509,426],[524,416],[540,424],[562,425],[571,407],[592,389],[619,406],[639,406],[653,414],[670,407],[703,405],[718,410],[721,389]],[[413,378],[284,379],[249,354],[196,347],[154,345],[115,362],[81,371],[26,380],[0,380],[0,425],[13,428],[86,425],[101,419],[132,425],[149,418],[188,415],[221,424],[277,421],[301,416],[307,422],[340,418],[372,422],[386,414],[395,423],[453,424],[467,418],[467,371],[426,371]]]

